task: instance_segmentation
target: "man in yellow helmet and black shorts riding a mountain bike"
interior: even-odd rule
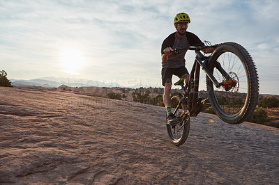
[[[185,55],[187,50],[181,51],[179,54],[173,54],[175,48],[186,47],[202,47],[204,43],[195,35],[187,31],[188,24],[190,24],[190,17],[186,13],[178,13],[174,17],[174,27],[176,32],[170,34],[164,41],[161,47],[162,54],[162,82],[164,89],[163,102],[167,111],[167,124],[179,123],[179,120],[175,118],[171,108],[170,93],[172,90],[172,75],[176,75],[181,78],[185,75],[185,83],[188,82],[189,72],[185,67]],[[213,49],[203,49],[204,53],[208,54]]]

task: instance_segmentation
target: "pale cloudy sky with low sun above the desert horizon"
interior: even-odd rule
[[[279,95],[278,8],[278,0],[0,0],[0,70],[8,79],[163,87],[160,47],[184,12],[201,40],[243,45],[257,66],[259,93]],[[194,57],[186,54],[189,71]]]

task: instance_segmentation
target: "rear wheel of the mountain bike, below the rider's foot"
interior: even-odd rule
[[[174,113],[174,110],[176,108],[177,111]],[[176,118],[179,118],[181,124],[167,124],[167,134],[169,134],[169,139],[172,144],[179,146],[185,143],[188,138],[188,134],[190,131],[190,118],[186,118],[186,115],[183,116],[183,114],[186,112],[183,111],[181,104],[179,104],[178,96],[172,97],[172,112],[174,113]],[[189,112],[187,112],[186,114],[190,115]]]

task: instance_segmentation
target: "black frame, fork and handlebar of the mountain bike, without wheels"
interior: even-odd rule
[[[195,57],[195,62],[193,64],[192,70],[190,72],[190,77],[188,80],[188,84],[186,84],[186,89],[184,87],[183,81],[181,81],[180,86],[186,93],[186,97],[184,97],[182,94],[179,95],[180,102],[183,106],[183,110],[188,110],[190,111],[190,116],[197,116],[199,111],[201,111],[201,106],[198,104],[198,92],[199,92],[199,72],[200,72],[200,67],[202,66],[202,70],[204,70],[205,74],[209,79],[212,81],[212,83],[216,86],[216,88],[220,88],[220,86],[223,86],[223,82],[218,82],[215,77],[213,77],[212,72],[208,68],[208,63],[209,63],[209,58],[210,56],[204,56],[200,50],[205,49],[207,47],[211,46],[204,46],[204,47],[189,47],[189,48],[184,48],[184,49],[174,49],[174,52],[180,52],[182,50],[188,49],[188,50],[195,50],[196,52],[196,57]],[[216,45],[213,47],[217,47]],[[226,79],[226,81],[232,80],[227,72],[223,69],[223,67],[220,65],[218,61],[216,61],[215,64],[216,69],[223,75],[223,77]],[[185,107],[186,106],[186,107]],[[179,105],[176,107],[176,111],[179,109]]]

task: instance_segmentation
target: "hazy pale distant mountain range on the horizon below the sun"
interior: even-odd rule
[[[121,87],[118,83],[103,83],[100,81],[93,81],[89,79],[76,79],[76,78],[56,78],[56,77],[44,77],[30,80],[9,79],[12,86],[17,87],[43,87],[43,88],[58,88],[61,85],[68,87]]]

